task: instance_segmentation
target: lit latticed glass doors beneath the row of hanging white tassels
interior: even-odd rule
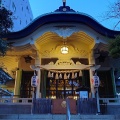
[[[72,97],[77,99],[79,94],[76,89],[81,85],[82,78],[79,79],[48,79],[46,97],[52,99]]]

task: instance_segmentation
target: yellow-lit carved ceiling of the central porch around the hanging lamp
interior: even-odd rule
[[[63,42],[69,49],[68,54],[61,53]],[[42,57],[59,59],[87,58],[94,44],[94,39],[84,32],[73,33],[67,38],[60,37],[53,32],[46,32],[35,41],[35,46]]]

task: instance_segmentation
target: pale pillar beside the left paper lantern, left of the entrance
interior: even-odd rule
[[[39,54],[37,53],[36,58],[35,58],[35,67],[37,68],[37,76],[38,76],[38,86],[36,88],[36,98],[40,98],[41,97],[41,93],[40,93],[40,78],[41,78],[41,72],[40,72],[40,57]]]

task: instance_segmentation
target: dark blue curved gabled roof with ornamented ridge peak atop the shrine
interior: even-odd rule
[[[96,32],[98,32],[101,35],[114,38],[116,35],[120,34],[120,31],[114,31],[110,30],[101,24],[99,24],[96,20],[94,20],[92,17],[81,14],[79,12],[75,12],[74,10],[70,9],[68,6],[66,6],[67,11],[61,11],[63,7],[60,7],[53,13],[45,14],[40,16],[39,18],[35,19],[29,26],[27,26],[25,29],[10,33],[7,36],[5,36],[8,40],[10,39],[19,39],[22,37],[26,37],[33,33],[35,30],[37,30],[39,27],[49,24],[49,23],[64,23],[64,22],[75,22],[75,23],[82,23],[86,26],[89,26]]]

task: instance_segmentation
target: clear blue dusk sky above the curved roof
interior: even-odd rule
[[[116,19],[103,20],[109,7],[117,0],[66,0],[66,5],[75,11],[88,14],[103,26],[113,29]],[[63,3],[62,0],[29,0],[34,18],[45,13],[54,12]],[[117,30],[119,27],[116,28]]]

